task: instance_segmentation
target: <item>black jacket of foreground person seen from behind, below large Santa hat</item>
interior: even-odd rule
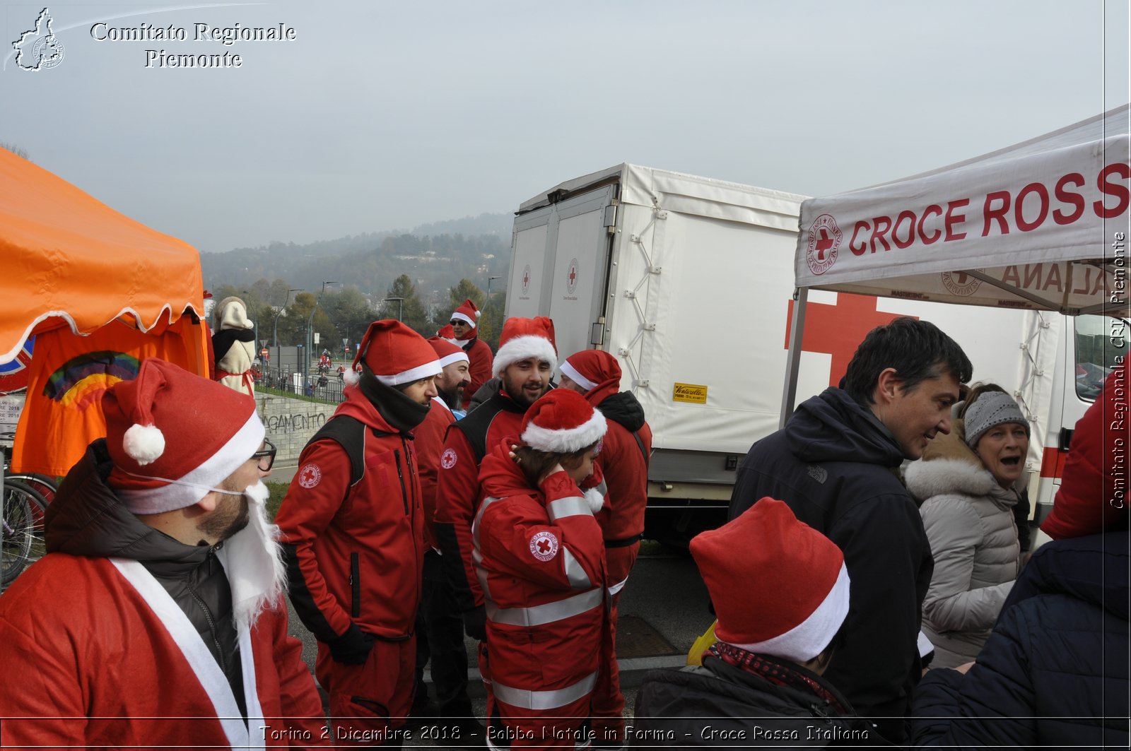
[[[794,670],[848,707],[819,675]],[[702,666],[649,672],[637,693],[632,730],[638,749],[884,745],[867,723],[837,715],[815,693],[770,683],[715,657]]]

